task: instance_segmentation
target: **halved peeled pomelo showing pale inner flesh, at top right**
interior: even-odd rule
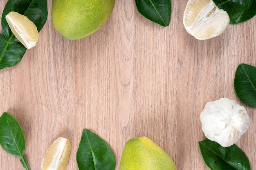
[[[189,0],[183,15],[186,31],[196,39],[210,39],[221,35],[229,25],[229,15],[213,0]]]

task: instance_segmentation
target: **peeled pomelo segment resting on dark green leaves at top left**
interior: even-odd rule
[[[25,15],[11,11],[5,16],[5,19],[11,28],[13,35],[27,49],[36,46],[38,41],[38,30],[36,25]]]

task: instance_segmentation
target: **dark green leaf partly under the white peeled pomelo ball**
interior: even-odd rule
[[[205,139],[199,142],[205,164],[211,170],[250,170],[245,153],[235,144],[222,147],[217,142]]]

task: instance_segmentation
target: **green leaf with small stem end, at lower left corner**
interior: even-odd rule
[[[0,117],[0,144],[7,153],[20,157],[24,168],[29,169],[23,157],[26,144],[24,133],[17,120],[7,112]]]

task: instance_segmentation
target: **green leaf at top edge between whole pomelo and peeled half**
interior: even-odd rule
[[[148,20],[168,26],[171,19],[171,0],[135,0],[136,7]]]

